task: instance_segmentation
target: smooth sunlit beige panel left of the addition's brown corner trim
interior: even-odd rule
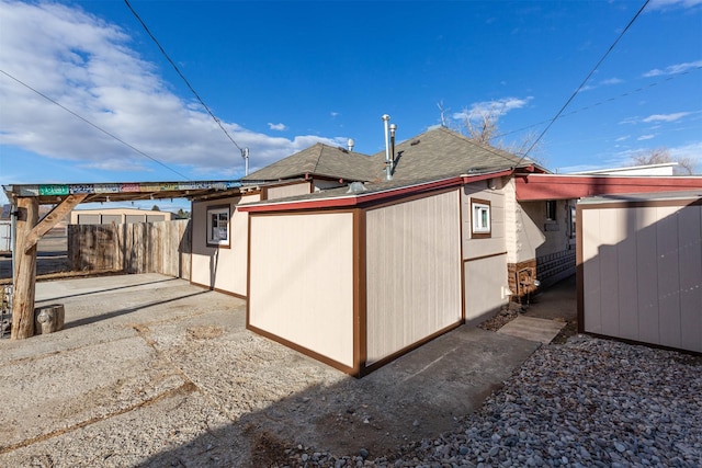
[[[353,366],[353,215],[251,217],[249,323]]]

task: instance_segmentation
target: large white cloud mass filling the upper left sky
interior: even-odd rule
[[[7,73],[165,164],[199,173],[241,172],[244,160],[233,157],[238,150],[217,123],[195,101],[173,94],[118,26],[56,3],[0,0],[0,69]],[[0,75],[0,145],[90,168],[151,164],[5,75]],[[252,168],[317,141],[346,142],[318,136],[271,137],[236,123],[222,125],[240,147],[250,148]]]

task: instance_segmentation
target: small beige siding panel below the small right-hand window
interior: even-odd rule
[[[465,319],[476,320],[507,304],[507,254],[464,263]]]

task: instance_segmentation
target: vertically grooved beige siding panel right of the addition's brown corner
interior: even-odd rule
[[[457,191],[366,214],[367,364],[461,320]]]

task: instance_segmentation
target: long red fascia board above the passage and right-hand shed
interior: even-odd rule
[[[517,199],[529,202],[699,190],[702,178],[530,174],[517,178],[516,184]]]

